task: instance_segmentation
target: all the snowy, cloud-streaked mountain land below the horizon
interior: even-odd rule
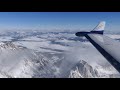
[[[119,34],[107,36],[120,40]],[[0,32],[0,78],[120,78],[84,37],[70,31]]]

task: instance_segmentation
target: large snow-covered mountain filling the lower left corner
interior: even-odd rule
[[[36,70],[47,64],[45,57],[32,50],[12,43],[0,45],[0,74],[3,77],[34,77]]]

